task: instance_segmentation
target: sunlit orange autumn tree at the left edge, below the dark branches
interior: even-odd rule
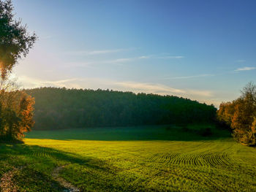
[[[15,82],[5,79],[0,85],[0,140],[20,140],[34,125],[34,99]]]

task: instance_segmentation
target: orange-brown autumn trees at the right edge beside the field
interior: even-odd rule
[[[233,137],[244,145],[256,145],[256,85],[249,82],[238,99],[222,103],[217,119],[233,129]]]

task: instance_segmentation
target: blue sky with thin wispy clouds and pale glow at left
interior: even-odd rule
[[[182,96],[219,106],[256,82],[256,1],[13,0],[38,40],[23,88]]]

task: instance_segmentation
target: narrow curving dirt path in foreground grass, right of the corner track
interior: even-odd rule
[[[62,177],[59,176],[59,172],[61,172],[61,169],[63,169],[67,165],[58,166],[56,169],[53,170],[53,178],[58,181],[61,186],[64,188],[64,192],[80,192],[79,188],[76,188],[71,183],[67,182],[67,180],[64,180]]]

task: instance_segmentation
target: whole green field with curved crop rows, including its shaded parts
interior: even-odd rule
[[[66,182],[80,191],[256,191],[256,149],[224,132],[203,137],[168,126],[31,131],[25,144],[0,145],[0,186],[63,191]],[[4,186],[6,180],[15,188]]]

